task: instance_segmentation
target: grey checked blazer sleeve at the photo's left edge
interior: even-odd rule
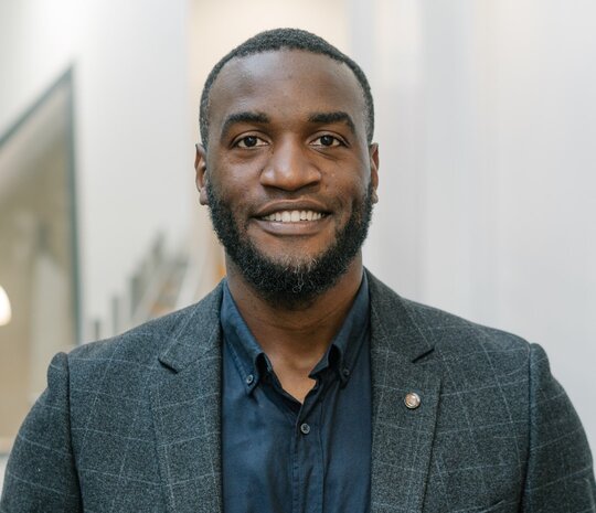
[[[0,511],[2,513],[82,512],[71,445],[68,361],[52,360],[47,388],[26,416],[12,448]]]

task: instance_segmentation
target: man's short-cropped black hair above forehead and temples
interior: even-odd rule
[[[371,86],[369,85],[366,75],[364,75],[364,72],[360,66],[348,55],[336,49],[336,46],[311,32],[300,29],[274,29],[260,32],[246,40],[222,57],[222,60],[213,66],[213,70],[211,70],[211,73],[205,81],[203,93],[201,94],[201,106],[199,109],[199,129],[201,131],[203,146],[206,148],[209,139],[209,101],[211,87],[222,68],[233,58],[278,50],[302,50],[305,52],[327,55],[334,61],[345,64],[352,70],[364,96],[364,105],[366,108],[366,140],[370,145],[374,132],[374,105]]]

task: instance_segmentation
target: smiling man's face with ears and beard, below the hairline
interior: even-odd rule
[[[211,90],[207,148],[201,202],[255,289],[291,306],[334,285],[360,252],[377,184],[352,72],[300,51],[231,61]]]

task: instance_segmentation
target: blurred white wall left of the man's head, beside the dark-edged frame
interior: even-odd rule
[[[74,64],[84,320],[160,231],[187,235],[193,194],[187,2],[0,2],[0,133]],[[50,299],[50,298],[49,298]]]

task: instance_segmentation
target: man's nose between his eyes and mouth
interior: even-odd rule
[[[313,185],[320,179],[321,173],[309,156],[309,149],[295,139],[286,139],[275,146],[260,173],[263,185],[285,191]]]

